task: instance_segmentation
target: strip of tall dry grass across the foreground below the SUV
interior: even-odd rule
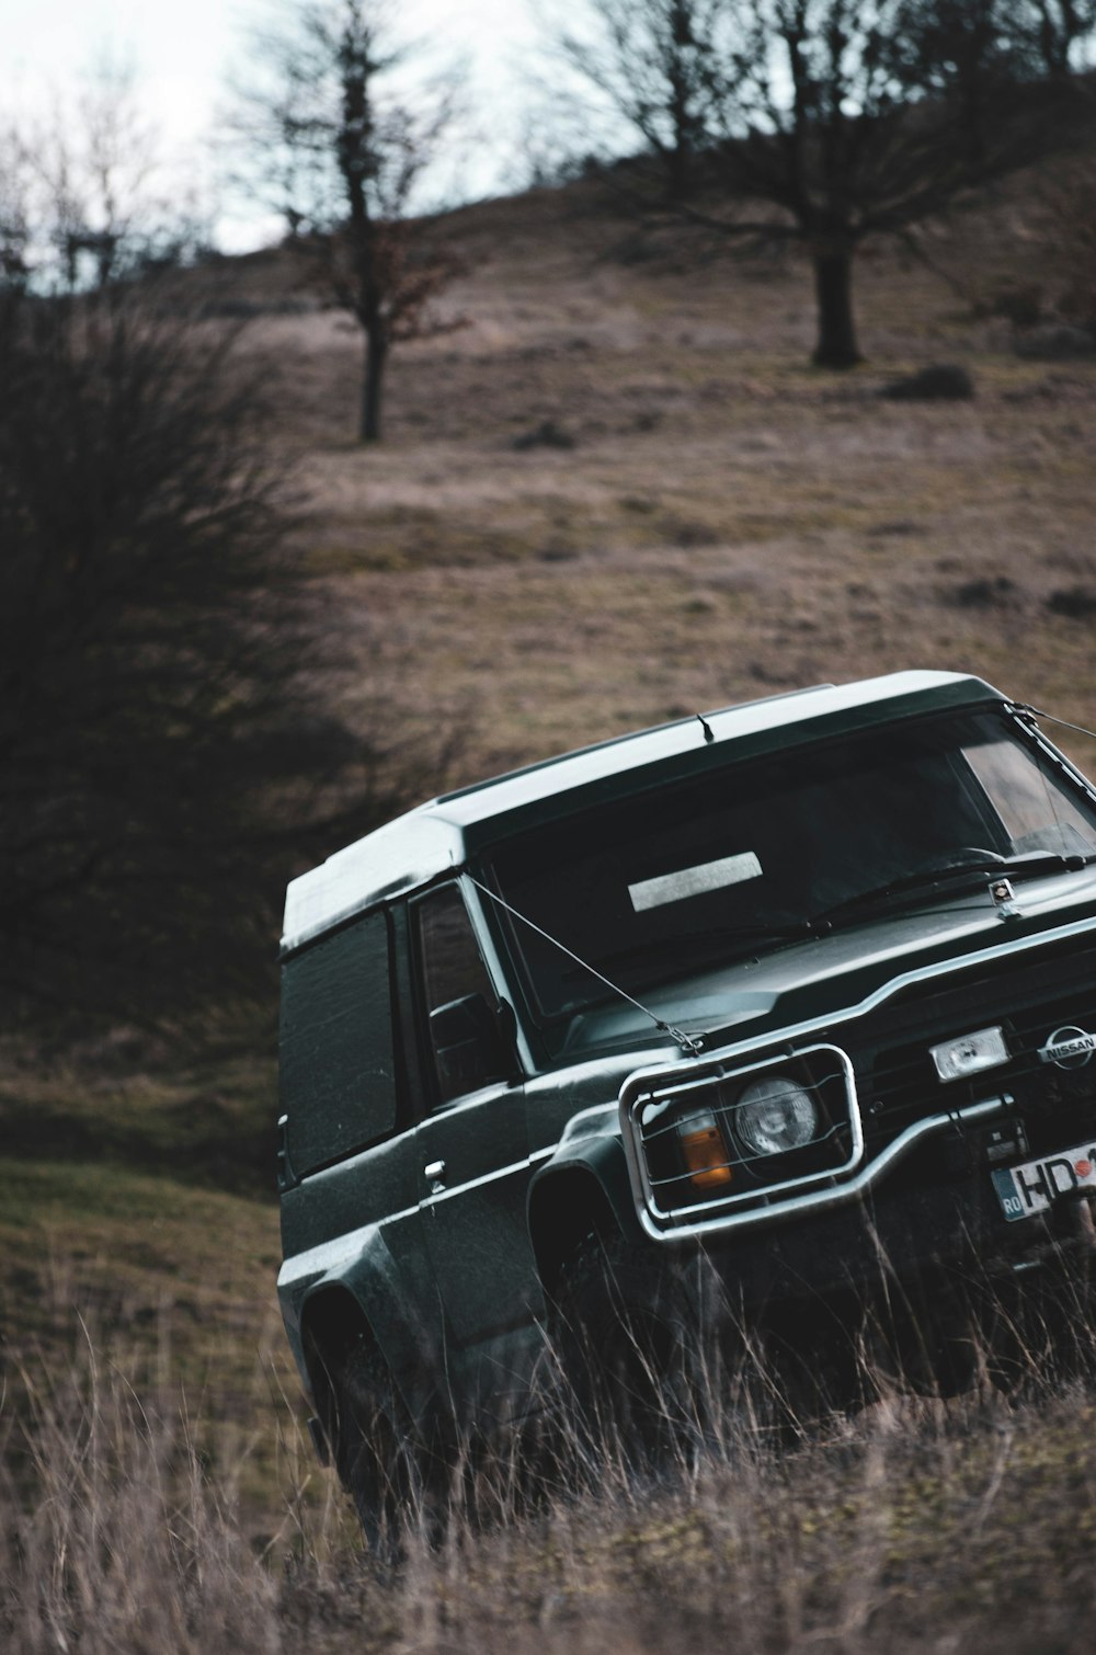
[[[872,1382],[859,1415],[785,1422],[778,1442],[722,1385],[657,1465],[565,1405],[536,1438],[469,1445],[379,1564],[283,1397],[257,1422],[281,1437],[260,1536],[245,1466],[172,1384],[171,1327],[139,1362],[76,1322],[63,1369],[10,1364],[0,1647],[1088,1650],[1096,1405],[1079,1370],[1026,1402]]]

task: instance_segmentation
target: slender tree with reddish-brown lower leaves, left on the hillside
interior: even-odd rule
[[[386,0],[288,0],[235,88],[238,175],[285,218],[364,339],[358,432],[381,437],[392,344],[445,326],[434,296],[459,271],[452,248],[411,218],[414,190],[452,116],[452,89],[417,108],[391,91],[406,55]]]

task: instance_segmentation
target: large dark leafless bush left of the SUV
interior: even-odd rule
[[[0,993],[20,1003],[162,1018],[265,993],[285,877],[359,765],[232,339],[136,285],[0,290]]]

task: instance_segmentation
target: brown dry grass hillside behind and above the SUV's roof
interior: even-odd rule
[[[1038,266],[1002,213],[1023,232],[1021,199],[932,233],[972,306]],[[581,192],[467,209],[454,232],[469,326],[394,356],[381,449],[349,440],[358,341],[338,316],[252,336],[303,444],[303,546],[391,728],[455,717],[475,780],[906,665],[1096,720],[1093,622],[1046,606],[1096,583],[1093,361],[1020,359],[1007,323],[886,248],[858,275],[869,359],[834,377],[806,366],[795,258],[669,227],[642,243]],[[973,374],[972,402],[877,397],[942,359]],[[574,447],[515,452],[545,420]]]

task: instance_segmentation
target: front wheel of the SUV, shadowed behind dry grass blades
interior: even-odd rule
[[[656,1470],[705,1432],[714,1374],[680,1273],[623,1236],[588,1236],[556,1284],[551,1334],[574,1446]]]

